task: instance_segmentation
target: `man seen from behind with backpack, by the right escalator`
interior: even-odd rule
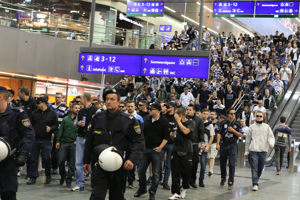
[[[286,117],[280,117],[280,124],[277,124],[273,128],[273,134],[275,137],[274,149],[275,149],[275,163],[276,163],[276,175],[281,173],[281,167],[283,163],[283,156],[288,146],[287,152],[291,150],[291,131],[290,127],[286,126]]]

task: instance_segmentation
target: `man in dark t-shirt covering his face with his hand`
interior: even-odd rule
[[[193,139],[195,130],[195,121],[188,120],[185,117],[183,108],[177,108],[174,114],[176,123],[175,130],[171,132],[171,139],[175,141],[171,156],[172,186],[171,192],[173,199],[185,197],[189,186],[189,177],[191,175]],[[176,133],[174,132],[176,131]],[[182,189],[180,185],[182,179]]]

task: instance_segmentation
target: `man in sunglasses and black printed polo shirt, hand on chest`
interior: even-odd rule
[[[225,186],[227,176],[226,164],[228,158],[228,190],[233,190],[233,182],[235,175],[235,158],[238,149],[237,140],[239,139],[239,137],[243,137],[243,128],[235,119],[234,108],[228,108],[226,114],[227,118],[221,121],[220,126],[217,128],[218,135],[216,149],[220,151],[220,186]]]

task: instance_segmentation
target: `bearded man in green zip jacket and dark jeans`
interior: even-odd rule
[[[66,116],[61,122],[56,143],[56,148],[60,149],[58,153],[58,168],[61,175],[59,184],[62,185],[66,182],[66,187],[71,187],[72,176],[75,175],[75,151],[78,128],[75,128],[73,124],[80,110],[80,105],[74,103],[71,110],[71,115]],[[68,173],[65,170],[65,161],[67,159],[69,160]]]

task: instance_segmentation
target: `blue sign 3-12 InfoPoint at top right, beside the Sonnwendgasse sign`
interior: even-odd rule
[[[214,2],[213,14],[254,14],[255,2]]]

